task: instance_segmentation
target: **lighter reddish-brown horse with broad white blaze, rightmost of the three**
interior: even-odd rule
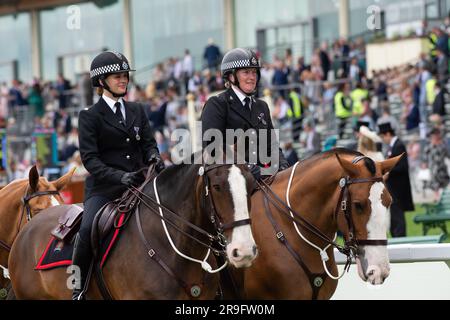
[[[392,201],[383,175],[400,158],[374,162],[335,149],[278,173],[270,186],[261,183],[251,211],[259,257],[243,270],[244,297],[331,298],[339,278],[333,246],[348,262],[356,257],[362,280],[382,284],[389,275]],[[334,242],[338,230],[343,247]]]

